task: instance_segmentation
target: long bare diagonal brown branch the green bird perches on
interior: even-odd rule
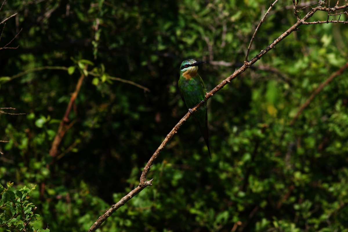
[[[253,65],[256,61],[258,61],[263,55],[265,55],[269,50],[274,48],[280,41],[285,39],[289,34],[291,34],[293,31],[296,31],[299,26],[302,24],[305,24],[306,20],[309,19],[313,14],[318,10],[323,11],[335,11],[340,9],[346,9],[348,8],[348,3],[346,2],[343,6],[335,6],[332,8],[327,8],[326,6],[322,7],[322,5],[318,5],[317,7],[311,8],[311,10],[302,18],[298,19],[297,22],[292,25],[287,31],[285,31],[283,34],[281,34],[275,41],[273,41],[268,47],[264,48],[260,51],[258,55],[256,55],[254,58],[251,59],[251,61],[244,62],[243,66],[240,67],[238,70],[236,70],[233,74],[231,74],[228,78],[223,80],[219,85],[217,85],[214,89],[212,89],[209,93],[205,95],[205,101],[209,98],[211,98],[217,91],[222,89],[225,85],[231,82],[231,80],[235,79],[239,74],[243,73],[245,70],[247,70],[251,65]],[[329,21],[330,23],[330,21]],[[345,21],[345,23],[348,23],[348,21]],[[197,109],[202,105],[203,103],[198,103],[195,107],[192,108],[192,111],[195,112]],[[101,215],[95,223],[89,228],[88,232],[93,232],[96,229],[100,227],[100,225],[108,218],[114,211],[116,211],[118,208],[123,206],[128,200],[130,200],[132,197],[134,197],[136,194],[138,194],[140,191],[142,191],[145,187],[152,185],[152,179],[150,181],[146,180],[146,177],[150,171],[150,168],[152,167],[153,162],[158,157],[159,153],[164,149],[164,147],[168,144],[169,140],[177,133],[177,130],[183,125],[183,123],[188,120],[191,117],[191,113],[188,112],[185,114],[185,116],[180,119],[180,121],[175,125],[175,127],[169,132],[169,134],[165,137],[161,145],[157,148],[155,153],[153,153],[152,157],[146,164],[146,166],[143,169],[143,172],[140,177],[140,183],[139,186],[137,186],[134,190],[130,191],[127,195],[125,195],[121,200],[119,200],[116,204],[111,206],[110,209],[106,210],[106,212]]]

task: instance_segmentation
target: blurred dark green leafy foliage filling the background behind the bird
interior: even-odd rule
[[[87,231],[139,184],[145,163],[187,112],[176,86],[180,63],[208,61],[199,73],[212,89],[242,65],[269,4],[7,0],[0,18],[18,15],[0,25],[0,47],[23,30],[11,43],[18,49],[0,50],[0,103],[25,115],[0,114],[0,140],[9,141],[0,144],[0,183],[16,186],[9,199],[2,192],[10,200],[2,202],[2,223],[23,225],[8,219],[23,216],[17,206],[34,204],[35,214],[24,213],[38,219],[33,228]],[[271,10],[250,58],[295,23],[291,4]],[[317,12],[311,21],[326,17]],[[189,120],[153,165],[153,185],[98,231],[348,231],[347,71],[289,125],[348,60],[348,29],[300,29],[209,99],[213,159]],[[82,73],[72,126],[53,162],[49,151]],[[37,187],[22,199],[31,184]]]

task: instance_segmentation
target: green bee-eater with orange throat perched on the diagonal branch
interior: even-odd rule
[[[200,132],[204,138],[208,147],[210,159],[212,158],[209,149],[209,134],[208,134],[208,115],[207,115],[207,103],[199,107],[195,113],[191,108],[197,103],[204,101],[205,97],[205,85],[202,78],[198,75],[198,64],[206,63],[205,61],[195,61],[194,59],[188,59],[183,61],[180,65],[180,78],[178,83],[182,100],[185,102],[189,111],[193,114],[196,122],[198,123]]]

